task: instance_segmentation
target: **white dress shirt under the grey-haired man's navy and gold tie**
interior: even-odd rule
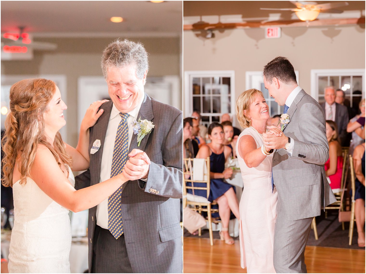
[[[138,105],[133,110],[128,112],[128,114],[130,114],[130,116],[127,118],[128,148],[130,148],[133,134],[132,122],[139,118],[137,117],[137,115],[140,111],[143,98],[144,96],[142,96]],[[111,116],[109,117],[107,132],[105,134],[99,182],[103,182],[111,178],[114,143],[116,140],[118,125],[122,120],[122,117],[119,115],[119,113],[120,111],[117,110],[116,106],[113,104]],[[101,228],[108,229],[108,198],[105,199],[103,202],[101,202],[99,205],[97,205],[96,217],[97,217],[97,225],[99,225]]]

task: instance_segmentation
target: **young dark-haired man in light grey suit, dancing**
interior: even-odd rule
[[[336,201],[324,171],[329,157],[325,117],[320,105],[296,83],[294,67],[287,58],[270,61],[263,75],[270,96],[284,105],[290,119],[281,136],[263,133],[267,151],[276,149],[272,167],[278,193],[273,265],[277,273],[306,273],[304,254],[311,221],[321,208]]]

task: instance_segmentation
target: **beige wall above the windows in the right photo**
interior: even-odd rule
[[[259,28],[214,33],[203,39],[183,32],[183,70],[234,70],[236,98],[245,90],[246,71],[262,71],[276,56],[291,61],[309,94],[311,69],[365,68],[365,26],[282,28],[276,39]]]

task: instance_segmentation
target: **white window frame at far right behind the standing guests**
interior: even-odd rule
[[[319,102],[319,76],[362,76],[362,98],[365,98],[365,69],[311,69],[310,95]],[[329,80],[328,80],[329,84]],[[336,87],[338,88],[338,87]]]

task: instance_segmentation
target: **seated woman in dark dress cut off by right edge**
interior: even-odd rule
[[[356,174],[355,180],[355,218],[358,233],[358,246],[365,247],[365,143],[356,146],[353,153]]]

